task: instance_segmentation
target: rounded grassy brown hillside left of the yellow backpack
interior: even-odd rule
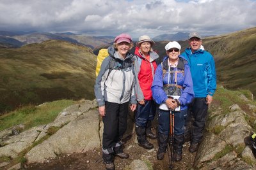
[[[90,48],[66,41],[0,48],[0,113],[29,103],[93,99],[95,65]]]

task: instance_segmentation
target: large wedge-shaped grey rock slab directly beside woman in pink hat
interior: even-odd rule
[[[44,162],[61,153],[81,153],[100,148],[98,131],[99,115],[96,110],[90,110],[32,148],[26,154],[28,162]]]

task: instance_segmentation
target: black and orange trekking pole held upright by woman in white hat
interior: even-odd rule
[[[173,164],[172,162],[174,161],[174,147],[173,147],[173,143],[174,143],[174,111],[173,110],[170,110],[170,132],[169,132],[169,140],[168,140],[168,148],[170,150],[170,153],[169,153],[169,150],[167,148],[167,152],[168,152],[168,157],[169,157],[169,168],[170,169],[173,169]]]

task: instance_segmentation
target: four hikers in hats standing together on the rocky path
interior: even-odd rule
[[[189,152],[196,152],[203,136],[208,105],[216,90],[216,71],[211,53],[202,48],[202,36],[191,32],[189,48],[180,55],[181,46],[170,41],[161,64],[153,50],[155,42],[141,36],[134,54],[129,34],[116,36],[109,46],[95,81],[95,97],[104,123],[102,158],[106,169],[115,169],[115,156],[129,158],[122,137],[127,129],[129,109],[135,111],[138,145],[154,148],[147,138],[157,139],[157,159],[163,160],[170,139],[170,114],[174,117],[174,160],[182,160],[185,138]],[[158,133],[152,132],[157,113]]]

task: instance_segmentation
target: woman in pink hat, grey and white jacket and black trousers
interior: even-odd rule
[[[106,169],[115,169],[115,156],[129,158],[123,151],[121,140],[127,129],[129,103],[132,111],[136,109],[137,103],[134,94],[133,55],[128,52],[132,46],[129,34],[116,36],[114,45],[108,48],[109,56],[103,60],[95,81],[95,97],[104,123],[102,157]]]

